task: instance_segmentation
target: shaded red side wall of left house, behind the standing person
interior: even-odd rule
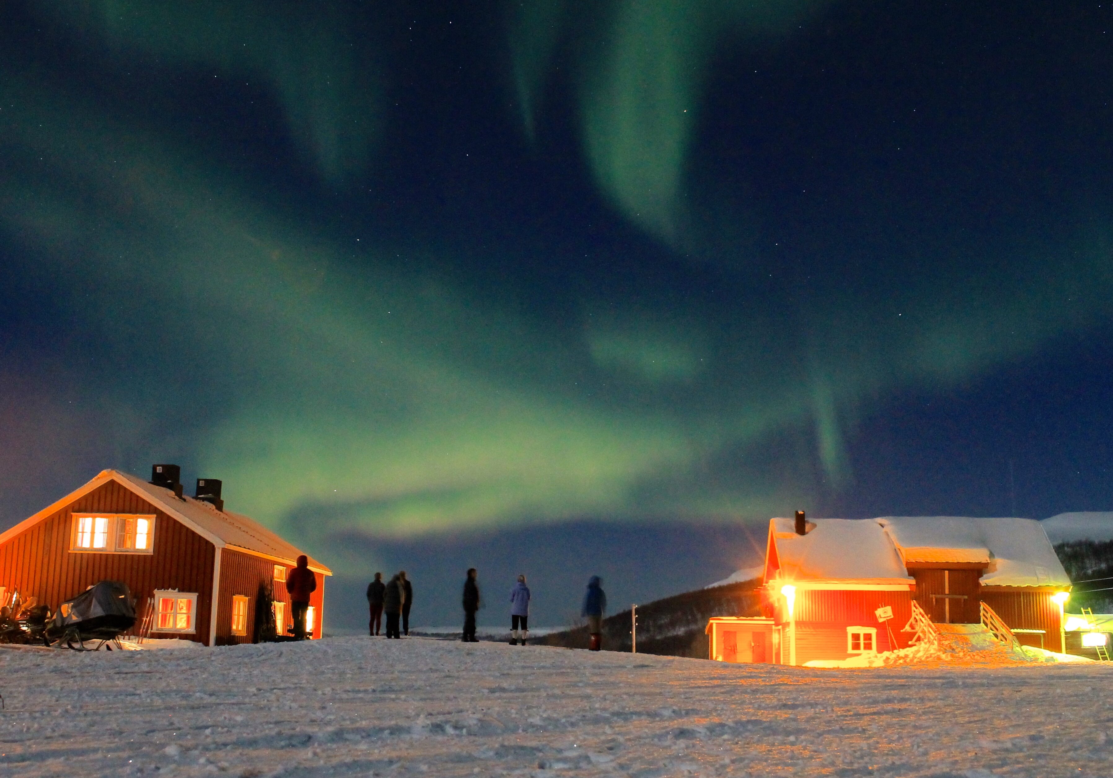
[[[217,603],[216,612],[216,643],[227,646],[232,643],[249,643],[255,639],[255,607],[258,602],[259,584],[272,588],[272,597],[286,603],[286,623],[293,624],[293,617],[289,608],[289,592],[286,584],[274,581],[274,569],[276,562],[240,551],[224,549],[220,552],[220,602]],[[287,575],[293,568],[287,567]],[[324,622],[324,594],[325,577],[314,573],[317,577],[317,590],[309,598],[309,604],[317,609],[317,623],[313,628],[313,637],[321,638],[322,624]],[[232,633],[232,598],[242,594],[249,598],[247,607],[247,634],[234,636]],[[279,632],[283,626],[278,627]]]

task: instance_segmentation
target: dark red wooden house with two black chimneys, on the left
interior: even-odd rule
[[[24,601],[35,597],[56,609],[107,579],[128,584],[140,618],[151,603],[154,638],[252,642],[268,600],[285,632],[293,623],[286,574],[302,552],[258,522],[224,510],[217,480],[198,479],[196,495],[184,495],[179,472],[177,465],[155,465],[151,480],[144,481],[102,471],[0,534],[0,597],[18,591]],[[308,618],[319,638],[324,579],[332,571],[312,558],[309,570],[317,590]]]

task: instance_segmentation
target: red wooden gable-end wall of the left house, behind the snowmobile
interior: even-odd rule
[[[71,553],[75,512],[155,514],[154,553]],[[124,581],[136,597],[140,618],[156,589],[197,592],[197,631],[175,637],[207,642],[214,551],[193,530],[109,481],[0,545],[0,585],[18,589],[53,610],[98,581]]]

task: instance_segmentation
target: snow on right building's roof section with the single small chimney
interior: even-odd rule
[[[798,535],[792,519],[770,519],[780,575],[794,580],[906,583],[912,579],[877,522],[857,519],[809,521]]]

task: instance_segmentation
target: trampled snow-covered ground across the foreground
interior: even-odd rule
[[[0,647],[0,775],[1113,775],[1113,668],[812,670],[434,639]]]

